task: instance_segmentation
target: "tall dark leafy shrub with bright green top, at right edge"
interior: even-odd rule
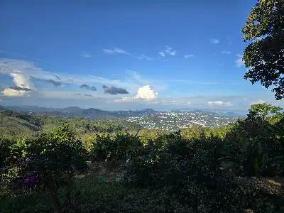
[[[279,110],[256,104],[246,119],[236,122],[224,139],[223,160],[228,169],[242,176],[284,174],[284,119]]]

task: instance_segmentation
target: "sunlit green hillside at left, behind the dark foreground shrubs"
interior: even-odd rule
[[[67,112],[65,111],[65,113]],[[96,114],[97,118],[104,116],[97,109],[86,110],[83,114]],[[48,113],[17,112],[2,108],[0,109],[0,133],[1,136],[21,138],[38,131],[51,131],[61,124],[69,124],[76,130],[78,136],[84,138],[91,133],[97,132],[113,133],[117,131],[138,131],[138,129],[141,129],[137,124],[128,121],[88,119],[89,117],[86,117],[76,118],[69,111],[67,114],[57,114],[55,116],[55,111],[52,111],[52,115],[49,115]]]

